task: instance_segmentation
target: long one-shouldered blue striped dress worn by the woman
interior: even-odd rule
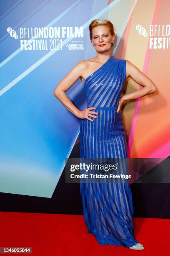
[[[80,159],[127,158],[122,113],[117,107],[126,79],[126,60],[111,56],[85,79],[87,108],[96,107],[97,118],[80,120]],[[80,181],[82,210],[87,233],[101,245],[131,247],[133,200],[128,182]]]

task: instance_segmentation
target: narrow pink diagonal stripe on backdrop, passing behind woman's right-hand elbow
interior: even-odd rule
[[[162,0],[157,0],[157,2],[156,2],[152,25],[156,24],[161,1]],[[150,49],[149,49],[149,40],[148,40],[148,47],[147,47],[146,57],[145,57],[144,66],[143,66],[143,73],[144,74],[146,74],[146,71],[147,71],[149,57],[150,57]],[[140,85],[139,89],[141,89],[142,87],[143,86]],[[140,108],[140,101],[141,101],[141,98],[138,98],[136,100],[135,111],[134,111],[134,115],[133,115],[133,121],[132,121],[131,129],[130,129],[130,135],[129,135],[129,141],[128,141],[128,149],[127,149],[128,150],[128,157],[129,158],[130,158],[130,152],[131,152],[131,149],[132,149],[133,138],[134,138],[134,134],[135,134],[135,127],[136,127],[137,118],[138,118],[138,112],[139,112],[139,108]]]

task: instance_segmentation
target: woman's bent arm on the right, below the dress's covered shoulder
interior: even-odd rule
[[[156,92],[156,86],[153,83],[153,81],[149,77],[147,77],[145,74],[143,74],[143,72],[141,72],[140,69],[138,69],[138,67],[133,65],[128,60],[126,60],[126,74],[127,74],[126,78],[130,76],[135,82],[142,85],[143,88],[136,92],[131,92],[123,95],[123,97],[120,98],[119,105],[117,108],[117,113],[121,110],[122,105],[125,101],[134,100],[134,99]]]

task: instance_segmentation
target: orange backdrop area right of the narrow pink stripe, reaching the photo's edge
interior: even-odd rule
[[[157,1],[155,6],[155,15],[153,24],[169,24],[168,15],[170,2],[163,0]],[[149,31],[149,30],[148,30]],[[135,136],[131,150],[131,157],[147,158],[150,154],[154,156],[163,144],[170,140],[170,120],[169,110],[169,67],[170,51],[169,49],[150,49],[150,59],[146,74],[157,86],[155,95],[147,95],[140,102],[138,121],[135,127]],[[160,158],[166,158],[167,150],[162,148]]]

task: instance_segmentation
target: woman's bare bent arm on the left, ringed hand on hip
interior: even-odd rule
[[[65,92],[82,76],[83,70],[86,68],[86,62],[80,61],[77,63],[75,67],[73,67],[70,72],[57,84],[53,95],[57,97],[58,100],[75,116],[78,118],[87,118],[90,121],[90,117],[97,118],[94,114],[98,114],[97,112],[93,112],[95,108],[87,108],[85,110],[80,111],[69,99]],[[90,117],[87,117],[87,113],[90,113]],[[93,114],[93,115],[92,115]]]

